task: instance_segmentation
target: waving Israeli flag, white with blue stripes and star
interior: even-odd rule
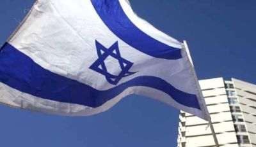
[[[125,0],[38,0],[0,53],[0,102],[58,115],[138,94],[206,119],[197,84],[182,43]]]

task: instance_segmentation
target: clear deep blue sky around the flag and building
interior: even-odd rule
[[[33,0],[0,1],[0,45]],[[188,41],[199,79],[256,83],[255,0],[131,0],[134,11],[173,38]],[[88,117],[45,115],[0,105],[0,146],[173,147],[179,111],[131,95]]]

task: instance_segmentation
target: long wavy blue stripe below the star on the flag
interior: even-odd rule
[[[132,86],[156,88],[180,104],[200,109],[196,95],[187,94],[154,76],[140,76],[109,90],[97,90],[79,81],[52,73],[6,43],[0,52],[0,82],[25,92],[58,102],[96,108]]]

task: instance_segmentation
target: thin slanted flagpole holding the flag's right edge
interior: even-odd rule
[[[210,116],[209,111],[208,111],[208,109],[207,109],[207,106],[206,106],[206,104],[205,104],[204,96],[203,96],[202,90],[201,90],[201,88],[200,88],[200,85],[199,85],[199,83],[198,83],[198,78],[197,78],[197,76],[196,76],[195,69],[193,68],[193,67],[194,67],[194,66],[193,66],[193,61],[192,61],[191,56],[190,56],[190,53],[189,53],[189,48],[188,48],[187,41],[184,40],[184,41],[183,41],[183,44],[184,44],[184,47],[185,47],[185,49],[186,49],[186,53],[187,53],[187,55],[188,55],[188,58],[189,58],[189,60],[190,60],[190,64],[191,64],[191,67],[192,67],[191,69],[192,69],[192,71],[193,71],[193,74],[194,74],[194,77],[195,77],[195,80],[196,80],[196,85],[197,85],[197,87],[198,87],[199,94],[200,94],[200,97],[201,97],[201,99],[202,99],[202,106],[203,106],[203,108],[204,108],[205,114],[207,115],[207,120],[208,120],[208,122],[209,122],[209,127],[211,128],[211,132],[212,132],[212,136],[213,136],[214,142],[215,142],[215,144],[216,144],[216,147],[220,147],[220,145],[219,145],[219,143],[218,143],[218,139],[217,139],[216,133],[215,133],[215,130],[214,130],[214,127],[213,127],[213,125],[212,125],[211,116]]]

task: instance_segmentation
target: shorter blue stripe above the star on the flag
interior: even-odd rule
[[[161,43],[141,31],[125,15],[118,0],[91,0],[104,24],[128,45],[152,57],[163,59],[180,59],[180,48]]]

